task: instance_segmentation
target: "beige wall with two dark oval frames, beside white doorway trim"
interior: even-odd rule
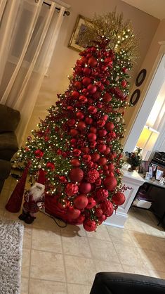
[[[137,88],[136,84],[133,84],[133,87],[131,89],[131,94],[135,89],[140,89],[140,99],[136,106],[133,106],[132,108],[128,108],[125,113],[125,123],[126,123],[126,134],[125,138],[123,140],[123,143],[128,139],[129,132],[131,130],[131,127],[133,126],[133,123],[138,115],[138,111],[140,107],[143,104],[143,101],[145,99],[145,96],[147,94],[147,90],[150,87],[150,83],[152,81],[152,77],[154,76],[154,73],[157,70],[157,67],[159,65],[159,61],[161,59],[161,56],[165,53],[165,19],[161,20],[159,23],[159,26],[157,28],[156,33],[154,34],[154,38],[152,39],[152,42],[150,44],[150,47],[147,51],[147,54],[145,56],[145,59],[139,69],[139,71],[143,68],[147,70],[147,75],[145,77],[145,81],[143,84]],[[162,45],[164,44],[164,45]],[[131,96],[130,94],[130,96]],[[155,97],[156,100],[157,97]],[[146,117],[147,120],[147,117]]]

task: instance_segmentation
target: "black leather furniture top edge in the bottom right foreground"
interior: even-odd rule
[[[90,294],[164,294],[165,280],[119,272],[95,275]]]

